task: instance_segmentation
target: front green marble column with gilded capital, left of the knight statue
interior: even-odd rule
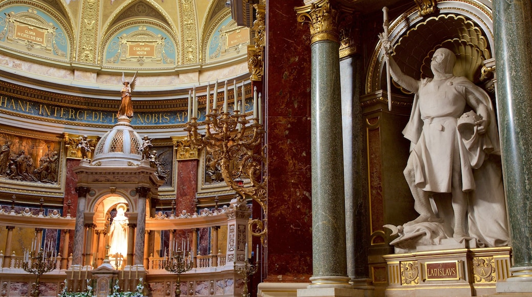
[[[297,7],[311,22],[312,263],[309,288],[351,288],[346,267],[338,11],[329,1]],[[318,22],[318,23],[316,23]]]

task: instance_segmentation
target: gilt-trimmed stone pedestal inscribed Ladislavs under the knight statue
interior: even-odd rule
[[[510,248],[384,255],[386,296],[484,296],[510,275]]]

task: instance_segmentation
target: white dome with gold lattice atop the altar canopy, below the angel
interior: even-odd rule
[[[142,159],[140,145],[142,137],[135,132],[127,117],[120,117],[96,145],[91,162],[98,166],[130,166],[131,162],[138,163]]]

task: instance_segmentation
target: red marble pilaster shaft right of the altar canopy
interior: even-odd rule
[[[176,212],[179,214],[182,210],[188,213],[196,212],[198,176],[198,160],[179,160],[177,162],[177,180],[181,181],[176,191]]]

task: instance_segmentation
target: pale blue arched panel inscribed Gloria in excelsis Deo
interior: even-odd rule
[[[0,46],[49,61],[70,61],[70,22],[54,8],[35,1],[0,5]]]

